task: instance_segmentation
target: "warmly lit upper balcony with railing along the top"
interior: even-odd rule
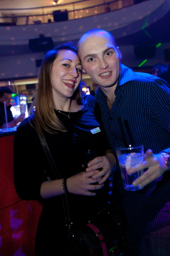
[[[58,20],[60,17],[63,17],[63,20],[80,19],[125,8],[143,1],[148,0],[83,0],[37,8],[0,9],[0,26],[51,23],[61,21]]]

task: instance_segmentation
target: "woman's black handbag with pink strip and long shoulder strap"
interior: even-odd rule
[[[34,126],[36,128],[35,122]],[[38,133],[38,136],[56,179],[61,179],[43,132]],[[87,224],[74,225],[70,220],[66,194],[62,195],[62,200],[68,227],[68,256],[128,256],[124,225],[112,204],[97,213]]]

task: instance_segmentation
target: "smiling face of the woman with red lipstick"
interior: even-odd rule
[[[82,66],[77,54],[60,50],[51,68],[51,86],[54,99],[70,98],[81,81]]]

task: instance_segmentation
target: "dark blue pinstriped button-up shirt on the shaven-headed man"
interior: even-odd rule
[[[96,100],[100,104],[107,137],[116,154],[122,146],[118,117],[127,120],[131,131],[129,144],[142,144],[145,151],[170,153],[170,85],[163,79],[136,73],[121,65],[115,90],[115,101],[109,111],[106,95],[98,88]],[[170,172],[155,179],[140,191],[123,188],[120,168],[113,180],[112,198],[115,206],[125,212],[131,234],[134,236],[170,225]]]

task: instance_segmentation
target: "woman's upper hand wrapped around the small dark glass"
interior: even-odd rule
[[[98,179],[102,177],[102,179],[99,181],[99,184],[103,184],[109,178],[115,164],[115,157],[112,155],[96,157],[88,163],[86,172],[91,172],[92,170],[102,168],[100,172],[92,176],[92,179]]]

